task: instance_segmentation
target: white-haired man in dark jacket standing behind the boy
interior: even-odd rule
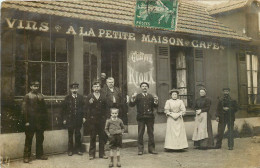
[[[127,115],[123,111],[123,106],[128,103],[128,99],[123,99],[119,88],[115,87],[115,81],[113,77],[108,77],[106,80],[107,87],[103,87],[101,92],[105,95],[107,101],[107,118],[110,118],[110,108],[119,109],[119,118],[123,120],[124,124],[127,124]]]

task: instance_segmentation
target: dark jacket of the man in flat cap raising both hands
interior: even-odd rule
[[[135,105],[137,109],[137,121],[140,121],[144,118],[154,118],[153,110],[155,107],[158,107],[158,104],[154,103],[153,95],[149,93],[147,96],[144,96],[142,93],[139,93],[136,96],[135,101],[130,101],[129,103],[130,107],[133,107]]]

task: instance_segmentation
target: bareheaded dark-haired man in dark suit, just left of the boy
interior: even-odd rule
[[[87,119],[90,128],[90,147],[89,159],[95,158],[96,154],[96,135],[99,138],[99,157],[107,159],[104,152],[105,145],[105,123],[106,123],[106,98],[100,94],[100,83],[94,82],[92,84],[93,93],[87,96]]]

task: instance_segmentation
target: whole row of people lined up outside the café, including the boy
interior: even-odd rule
[[[104,80],[106,83],[104,83]],[[46,129],[47,109],[44,97],[39,93],[39,82],[31,82],[31,91],[25,95],[22,111],[25,118],[25,147],[24,162],[29,163],[31,156],[31,145],[34,133],[36,133],[36,159],[47,160],[43,155],[44,130]],[[96,156],[96,136],[99,136],[99,157],[108,159],[105,155],[104,146],[109,140],[110,163],[114,166],[116,154],[117,166],[120,167],[120,148],[122,147],[122,134],[125,123],[121,120],[124,115],[122,106],[136,106],[138,123],[138,155],[144,154],[143,135],[145,126],[148,133],[148,152],[157,154],[154,142],[154,109],[158,106],[158,97],[148,93],[149,84],[140,83],[141,93],[136,92],[131,96],[122,97],[119,88],[114,86],[114,78],[109,77],[92,83],[92,92],[84,98],[78,93],[79,84],[70,84],[70,94],[63,101],[62,116],[63,124],[68,129],[68,155],[74,153],[82,155],[81,133],[83,123],[88,121],[90,130],[89,159]],[[214,139],[209,113],[211,101],[206,97],[206,89],[200,89],[200,98],[195,101],[196,111],[195,130],[193,134],[194,145],[197,148],[221,148],[221,142],[226,125],[228,125],[229,149],[233,149],[233,126],[234,113],[237,111],[236,101],[229,96],[229,88],[223,89],[224,97],[219,100],[216,113],[218,125],[218,140],[214,147]],[[170,92],[170,99],[165,103],[165,114],[167,116],[167,128],[165,135],[166,150],[181,150],[188,148],[183,116],[186,108],[182,100],[178,99],[179,91],[173,89]],[[73,143],[75,136],[75,145]]]

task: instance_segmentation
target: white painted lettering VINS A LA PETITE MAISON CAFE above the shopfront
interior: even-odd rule
[[[10,29],[24,29],[31,31],[49,32],[50,24],[48,22],[36,22],[32,20],[20,20],[13,18],[5,18],[6,24]],[[114,31],[102,28],[91,28],[91,27],[73,27],[72,25],[62,27],[60,25],[54,25],[53,30],[56,32],[64,32],[68,35],[79,35],[87,37],[98,37],[108,39],[120,39],[120,40],[140,40],[144,43],[155,43],[155,44],[169,44],[173,46],[185,46],[194,48],[204,48],[219,50],[224,49],[224,46],[217,42],[203,41],[197,39],[184,39],[173,36],[159,36],[150,34],[141,34],[141,38],[137,38],[135,33]]]

